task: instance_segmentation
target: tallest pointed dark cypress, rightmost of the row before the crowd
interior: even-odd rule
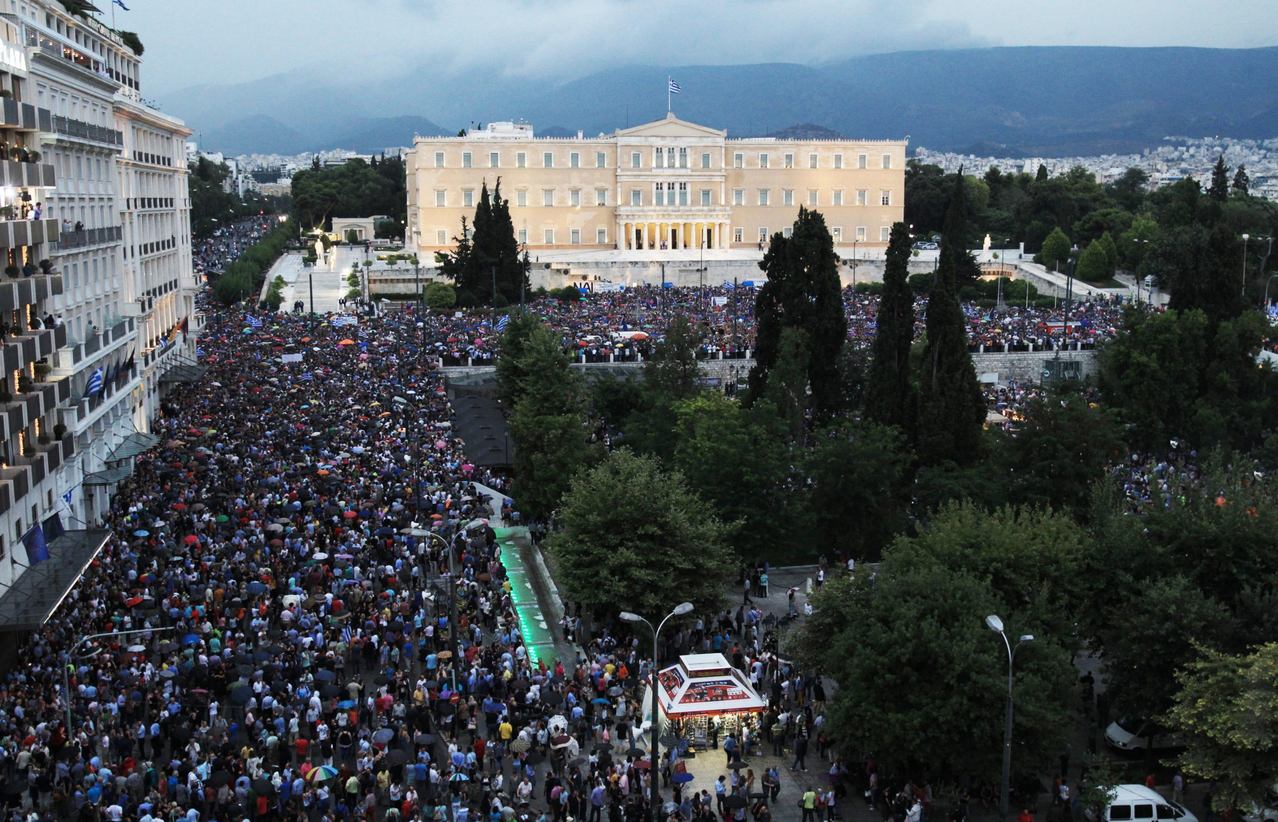
[[[938,465],[951,460],[970,464],[980,456],[985,400],[967,352],[967,320],[958,304],[958,272],[971,265],[962,242],[966,234],[962,169],[941,238],[937,281],[928,297],[927,346],[919,375],[919,461]]]

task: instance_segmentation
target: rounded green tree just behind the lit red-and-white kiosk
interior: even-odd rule
[[[547,542],[564,596],[598,612],[659,620],[680,602],[699,614],[723,603],[735,564],[726,527],[651,456],[620,449],[578,476]]]

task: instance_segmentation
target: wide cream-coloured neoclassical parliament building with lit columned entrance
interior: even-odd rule
[[[547,249],[758,248],[800,206],[835,243],[887,244],[904,219],[905,141],[728,138],[666,115],[587,138],[537,138],[489,123],[465,137],[418,137],[406,155],[409,242],[450,248],[481,184],[510,201],[521,244]]]

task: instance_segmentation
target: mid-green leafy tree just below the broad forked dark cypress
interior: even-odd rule
[[[670,465],[725,520],[737,555],[773,564],[790,559],[795,506],[785,444],[769,436],[757,414],[720,392],[677,401],[674,410]]]

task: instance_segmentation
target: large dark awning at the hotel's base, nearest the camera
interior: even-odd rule
[[[43,625],[102,546],[109,529],[68,531],[49,543],[49,559],[36,562],[0,593],[0,630],[33,630]],[[15,568],[22,568],[14,561]]]

